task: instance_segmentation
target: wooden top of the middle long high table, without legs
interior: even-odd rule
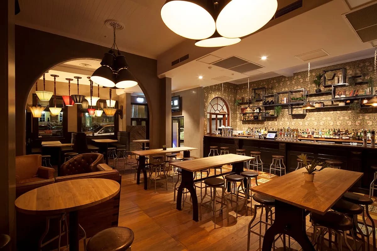
[[[253,159],[254,157],[244,155],[223,154],[205,158],[197,158],[194,160],[176,161],[169,164],[172,166],[180,167],[190,172],[195,172],[199,170],[205,170],[211,167],[224,166],[226,164],[232,164]]]

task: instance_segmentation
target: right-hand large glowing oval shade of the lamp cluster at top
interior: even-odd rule
[[[244,37],[267,24],[276,9],[277,0],[231,0],[220,11],[216,29],[223,37]]]

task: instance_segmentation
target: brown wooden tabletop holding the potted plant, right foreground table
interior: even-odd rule
[[[325,168],[314,175],[314,182],[305,181],[305,167],[251,188],[253,192],[319,214],[325,214],[363,173]]]

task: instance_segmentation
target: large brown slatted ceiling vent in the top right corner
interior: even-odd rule
[[[371,42],[377,40],[377,3],[345,14],[349,24],[360,40]]]

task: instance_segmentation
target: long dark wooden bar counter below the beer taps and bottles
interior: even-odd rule
[[[302,140],[320,140],[316,138],[303,138]],[[362,141],[361,141],[362,143]],[[282,141],[266,140],[245,136],[221,137],[205,135],[204,157],[209,154],[210,146],[227,146],[229,153],[236,153],[236,149],[246,149],[246,155],[250,151],[260,151],[263,162],[263,171],[269,172],[272,155],[283,155],[287,172],[292,172],[297,167],[297,155],[307,154],[308,158],[325,160],[340,160],[343,162],[342,169],[362,172],[362,178],[352,187],[354,192],[369,194],[369,185],[373,180],[374,172],[371,165],[377,164],[377,147],[362,145],[348,145],[338,142],[319,143],[311,141]],[[220,153],[220,150],[219,150]]]

